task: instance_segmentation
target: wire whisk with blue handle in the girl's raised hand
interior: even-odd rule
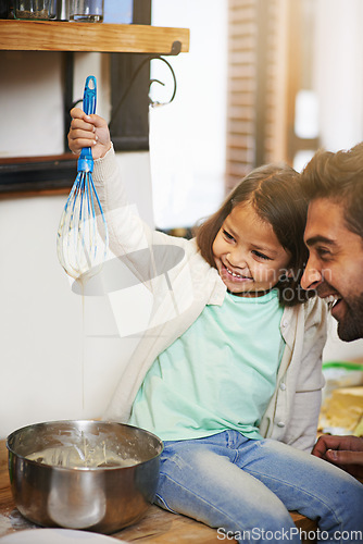
[[[96,77],[86,79],[84,111],[96,112]],[[74,277],[96,274],[108,254],[109,235],[93,180],[93,158],[89,147],[83,148],[77,177],[65,202],[58,228],[57,250],[65,272]]]

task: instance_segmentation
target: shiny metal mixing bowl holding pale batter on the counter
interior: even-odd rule
[[[105,444],[130,467],[66,468],[26,458],[51,447]],[[9,474],[16,507],[43,527],[112,533],[135,523],[152,502],[163,443],[130,425],[107,421],[51,421],[8,436]]]

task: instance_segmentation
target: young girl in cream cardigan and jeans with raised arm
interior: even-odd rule
[[[128,208],[107,123],[71,114],[70,148],[91,146],[98,159],[111,248],[163,317],[122,369],[105,415],[164,441],[155,503],[217,528],[221,540],[300,542],[289,510],[317,520],[325,542],[363,531],[363,486],[310,455],[326,308],[299,287],[306,206],[297,173],[253,171],[196,240],[174,238]],[[145,252],[155,247],[157,264]],[[175,247],[183,258],[171,265]]]

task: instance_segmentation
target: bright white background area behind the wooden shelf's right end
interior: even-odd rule
[[[167,57],[175,100],[150,112],[153,209],[158,226],[193,226],[224,197],[226,153],[227,8],[221,0],[153,0],[152,24],[190,28],[187,54]],[[170,100],[172,76],[152,61],[151,96]],[[162,143],[162,145],[161,145]]]

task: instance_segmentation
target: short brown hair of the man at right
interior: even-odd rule
[[[363,143],[348,151],[317,151],[301,183],[309,201],[327,198],[340,205],[347,228],[363,238]]]

